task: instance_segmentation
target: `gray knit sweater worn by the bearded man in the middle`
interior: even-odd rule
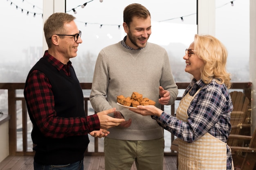
[[[116,107],[126,120],[132,119],[128,128],[119,126],[108,129],[107,137],[122,140],[150,140],[163,137],[162,128],[151,116],[141,116],[117,105],[117,96],[131,96],[138,92],[156,102],[160,108],[159,86],[171,93],[169,105],[178,94],[173,79],[168,54],[164,48],[147,43],[141,50],[129,50],[121,43],[103,48],[98,55],[90,102],[96,112]],[[113,116],[110,115],[110,116]]]

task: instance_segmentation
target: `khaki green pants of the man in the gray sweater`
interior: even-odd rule
[[[105,170],[130,170],[134,161],[137,170],[162,170],[164,137],[145,141],[105,137],[104,153]]]

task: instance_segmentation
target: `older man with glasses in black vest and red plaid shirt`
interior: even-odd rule
[[[107,115],[115,108],[85,116],[83,92],[70,61],[82,43],[74,19],[67,13],[54,13],[45,21],[48,50],[25,83],[35,170],[83,170],[88,133],[105,137],[109,134],[106,129],[124,122]]]

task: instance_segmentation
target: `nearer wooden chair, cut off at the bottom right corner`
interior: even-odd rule
[[[256,129],[252,136],[229,135],[230,139],[243,139],[245,146],[229,146],[232,150],[232,157],[236,170],[255,170],[256,169]],[[249,141],[249,145],[247,145]],[[240,153],[239,155],[237,153]]]

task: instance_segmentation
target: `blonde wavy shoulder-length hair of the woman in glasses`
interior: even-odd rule
[[[225,83],[230,88],[231,74],[226,71],[227,49],[225,46],[211,35],[195,34],[194,50],[204,61],[200,69],[202,81],[209,84],[215,78],[217,83]]]

